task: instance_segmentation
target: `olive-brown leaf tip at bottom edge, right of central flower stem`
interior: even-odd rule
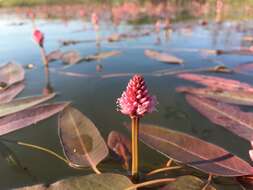
[[[192,175],[180,176],[175,182],[171,182],[161,190],[201,190],[205,186],[205,182],[198,177]],[[205,190],[215,190],[209,185]]]

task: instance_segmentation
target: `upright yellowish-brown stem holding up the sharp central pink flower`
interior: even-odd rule
[[[132,176],[138,178],[138,137],[139,137],[139,117],[131,117],[132,121]]]

